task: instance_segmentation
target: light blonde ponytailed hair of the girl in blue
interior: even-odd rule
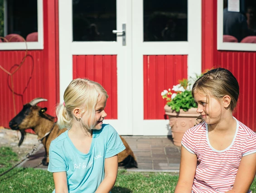
[[[82,78],[72,80],[64,92],[65,106],[60,103],[56,110],[59,128],[71,128],[74,119],[79,121],[72,111],[75,108],[81,108],[83,109],[81,116],[86,113],[83,121],[88,123],[87,125],[82,123],[82,125],[87,130],[91,130],[95,126],[95,108],[102,96],[108,98],[106,90],[99,83]]]

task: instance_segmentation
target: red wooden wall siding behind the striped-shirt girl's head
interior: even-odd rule
[[[202,1],[202,71],[227,68],[240,86],[234,116],[256,131],[256,52],[217,50],[217,1]]]

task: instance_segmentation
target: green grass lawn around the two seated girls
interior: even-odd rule
[[[16,163],[11,148],[0,147],[0,174]],[[138,173],[119,170],[112,193],[174,193],[178,175],[173,173]],[[51,193],[50,172],[33,168],[15,168],[0,177],[0,193]],[[251,190],[256,191],[256,180]]]

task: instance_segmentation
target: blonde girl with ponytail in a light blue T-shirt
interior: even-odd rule
[[[108,95],[97,82],[77,78],[63,98],[58,125],[68,130],[49,149],[53,193],[109,193],[116,182],[117,154],[125,146],[116,130],[103,124]]]

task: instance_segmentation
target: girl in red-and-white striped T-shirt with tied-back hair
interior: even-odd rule
[[[232,116],[237,79],[227,69],[213,69],[194,83],[192,94],[203,122],[182,139],[175,193],[251,193],[256,134]]]

